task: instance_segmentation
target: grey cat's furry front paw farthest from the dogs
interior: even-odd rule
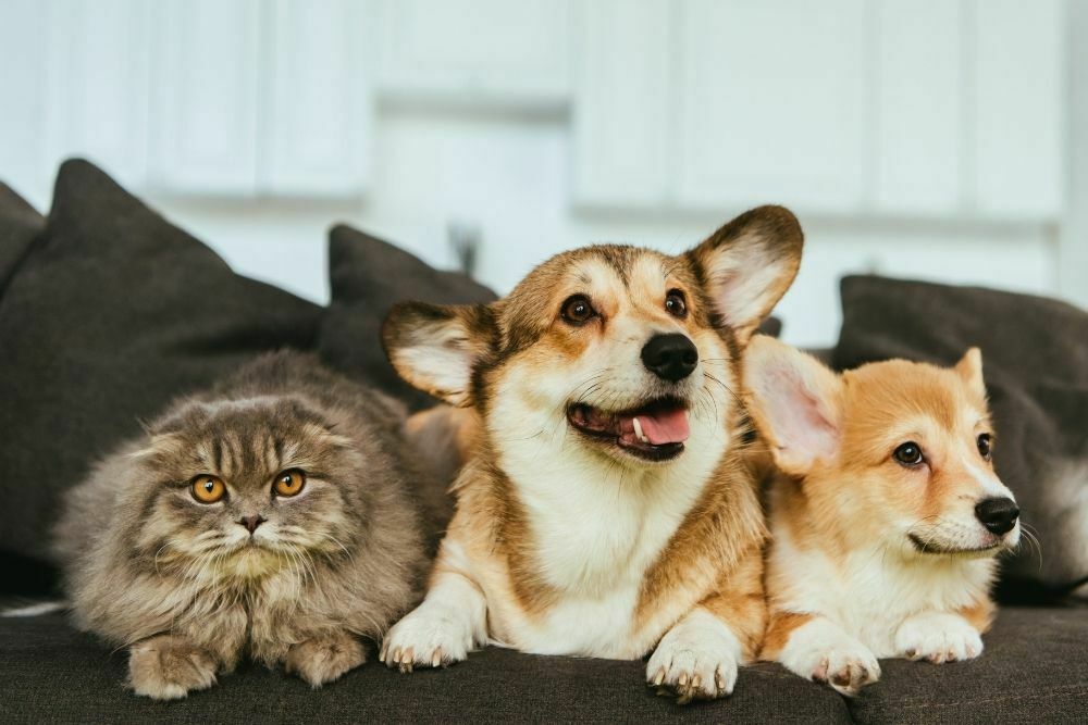
[[[132,646],[128,685],[136,695],[176,700],[215,684],[215,659],[182,637],[160,635]]]

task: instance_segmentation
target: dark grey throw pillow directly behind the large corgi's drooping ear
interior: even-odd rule
[[[434,398],[403,382],[382,350],[382,322],[404,300],[434,304],[491,302],[495,293],[460,272],[435,270],[403,249],[349,226],[329,233],[332,301],[321,326],[322,359],[396,396],[412,410]]]

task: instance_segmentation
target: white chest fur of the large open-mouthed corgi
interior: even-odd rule
[[[680,460],[634,475],[566,439],[573,435],[504,451],[541,575],[559,597],[530,617],[489,592],[495,628],[523,651],[641,657],[662,634],[632,632],[646,573],[702,493],[725,437],[695,433]]]

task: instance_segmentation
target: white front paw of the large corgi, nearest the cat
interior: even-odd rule
[[[400,620],[382,642],[381,660],[400,672],[460,662],[472,649],[472,627],[463,614],[424,602]]]

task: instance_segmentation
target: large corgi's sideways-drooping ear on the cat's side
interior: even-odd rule
[[[400,302],[382,326],[382,345],[408,384],[452,405],[472,404],[472,372],[494,346],[490,305]]]

